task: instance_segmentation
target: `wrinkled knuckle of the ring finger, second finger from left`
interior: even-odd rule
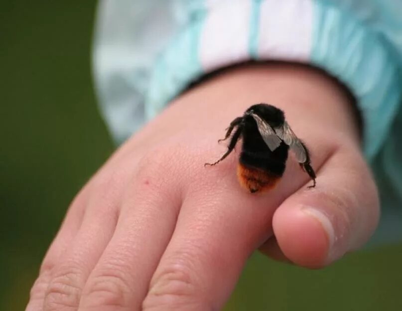
[[[72,267],[61,269],[50,281],[46,290],[44,310],[78,307],[81,294],[80,284],[80,271]]]

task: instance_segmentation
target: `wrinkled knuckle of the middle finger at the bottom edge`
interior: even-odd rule
[[[120,269],[108,268],[92,278],[84,289],[84,307],[111,306],[128,307],[131,294],[127,276]]]

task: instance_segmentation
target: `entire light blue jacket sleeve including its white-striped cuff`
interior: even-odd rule
[[[141,13],[131,16],[134,6]],[[398,0],[103,0],[94,50],[101,107],[123,141],[219,68],[249,60],[311,64],[355,95],[365,155],[382,193],[392,190],[386,205],[401,205],[402,163],[393,147],[402,130],[401,12]],[[394,211],[399,226],[383,227],[402,238],[402,208]]]

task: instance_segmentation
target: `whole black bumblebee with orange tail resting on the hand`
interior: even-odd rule
[[[310,153],[286,122],[282,110],[270,104],[255,104],[230,123],[225,138],[218,142],[230,136],[226,153],[218,161],[205,163],[205,166],[214,166],[224,160],[242,138],[237,176],[241,186],[251,193],[267,191],[276,186],[285,171],[289,149],[301,169],[313,181],[308,188],[315,187],[316,175],[311,167]]]

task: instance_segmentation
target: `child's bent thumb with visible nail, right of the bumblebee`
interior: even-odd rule
[[[379,219],[373,178],[360,152],[344,143],[319,170],[317,187],[302,187],[275,211],[277,242],[292,262],[320,267],[362,246]]]

